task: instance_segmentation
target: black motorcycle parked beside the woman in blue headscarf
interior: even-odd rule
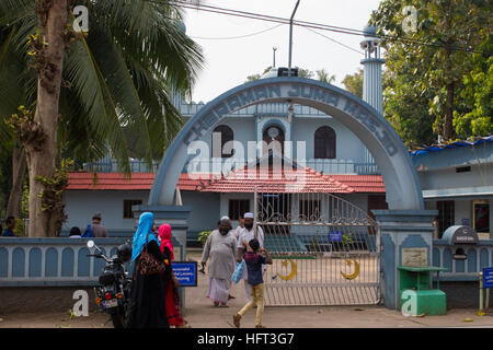
[[[94,244],[94,241],[89,241],[88,248],[93,247],[99,253],[87,256],[93,256],[106,262],[99,279],[100,285],[94,288],[95,302],[111,315],[115,328],[125,328],[131,287],[131,278],[125,270],[125,262],[131,259],[131,245],[128,241],[118,246],[116,255],[112,257],[106,257]]]

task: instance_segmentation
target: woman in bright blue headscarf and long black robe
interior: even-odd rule
[[[161,253],[159,242],[151,231],[154,215],[144,212],[139,219],[139,226],[134,234],[131,260],[134,262],[134,278],[128,310],[129,328],[168,328],[164,291],[164,275],[142,275],[139,270],[140,254],[147,246],[147,252],[156,259],[163,261],[170,269],[170,257]]]

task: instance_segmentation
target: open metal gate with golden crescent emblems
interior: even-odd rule
[[[379,230],[365,211],[332,194],[284,185],[256,187],[254,211],[273,257],[265,305],[379,303]]]

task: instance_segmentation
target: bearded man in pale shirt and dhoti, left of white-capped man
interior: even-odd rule
[[[208,236],[202,255],[203,268],[207,259],[210,259],[207,298],[214,302],[215,306],[227,306],[236,257],[237,240],[231,232],[229,218],[222,218],[219,229],[214,230]]]

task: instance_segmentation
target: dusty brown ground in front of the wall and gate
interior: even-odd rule
[[[191,253],[188,258],[199,259]],[[194,328],[232,328],[232,315],[246,302],[243,282],[234,284],[236,299],[229,307],[215,307],[206,298],[207,276],[198,275],[198,287],[186,288],[185,319]],[[71,306],[68,306],[70,308]],[[94,308],[95,310],[95,308]],[[491,310],[491,308],[490,308]],[[445,316],[405,317],[383,306],[273,306],[264,311],[263,324],[270,328],[416,328],[416,327],[491,327],[493,312],[478,316],[473,308],[454,308]],[[112,328],[108,315],[91,311],[88,317],[70,318],[68,312],[28,312],[3,314],[0,328]],[[255,313],[250,311],[242,327],[254,326]]]

